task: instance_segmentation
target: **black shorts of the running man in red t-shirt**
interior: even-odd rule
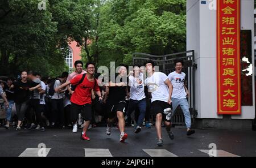
[[[79,113],[82,114],[85,121],[92,120],[92,105],[77,105],[71,104],[71,114],[72,114],[72,122],[76,123],[77,118],[79,117]]]

